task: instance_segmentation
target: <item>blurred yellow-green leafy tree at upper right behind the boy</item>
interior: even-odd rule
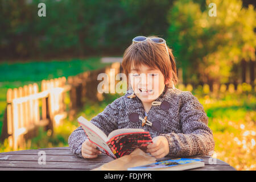
[[[208,15],[215,3],[217,16]],[[224,83],[232,77],[233,65],[242,60],[255,61],[256,37],[253,5],[242,8],[242,1],[206,1],[208,8],[177,1],[168,13],[168,43],[183,68],[185,83]]]

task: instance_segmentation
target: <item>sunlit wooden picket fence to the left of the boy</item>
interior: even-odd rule
[[[26,140],[38,135],[38,128],[53,134],[54,128],[68,115],[72,117],[85,104],[86,98],[100,101],[102,94],[97,92],[97,76],[100,73],[109,75],[109,69],[120,71],[120,63],[92,72],[80,73],[77,76],[43,80],[41,92],[38,84],[8,89],[7,106],[3,121],[1,139],[8,138],[13,150],[24,148]],[[114,76],[115,76],[114,75]],[[69,105],[65,98],[69,97]]]

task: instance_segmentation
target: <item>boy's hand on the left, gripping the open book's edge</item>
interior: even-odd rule
[[[85,159],[93,159],[97,158],[98,154],[101,154],[101,151],[96,149],[96,144],[90,142],[89,139],[86,139],[84,143],[82,143],[82,157]]]

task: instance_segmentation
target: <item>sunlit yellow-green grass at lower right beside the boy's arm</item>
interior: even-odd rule
[[[209,127],[213,130],[213,158],[221,159],[237,170],[255,170],[255,92],[225,92],[220,98],[197,98],[203,104]]]

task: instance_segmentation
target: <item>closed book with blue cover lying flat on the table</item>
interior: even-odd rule
[[[160,162],[147,164],[144,166],[128,168],[128,171],[150,171],[150,170],[162,170],[162,171],[182,171],[187,169],[204,167],[204,162],[201,159],[170,159]]]

